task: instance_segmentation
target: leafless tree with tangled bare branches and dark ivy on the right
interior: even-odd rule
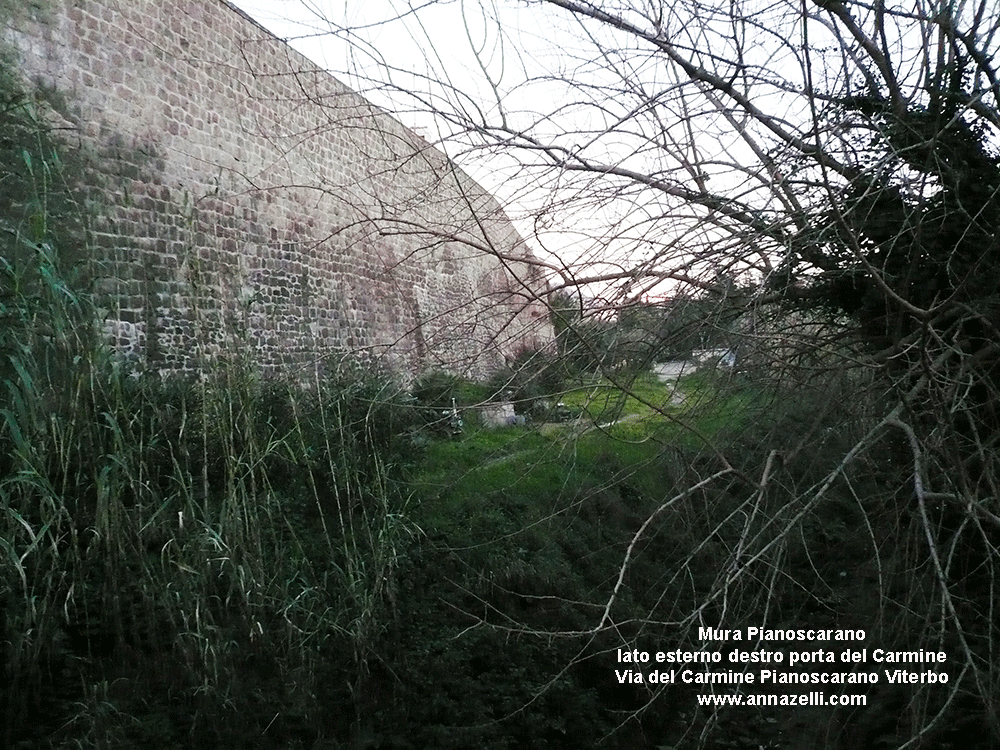
[[[728,559],[676,622],[768,613],[769,592],[792,575],[794,539],[829,522],[836,496],[870,532],[864,584],[878,604],[859,620],[873,635],[879,623],[885,642],[949,653],[951,681],[907,698],[913,723],[900,742],[915,746],[955,711],[996,741],[992,3],[463,4],[471,79],[442,67],[433,21],[420,25],[436,5],[401,5],[394,19],[425,34],[424,70],[358,46],[355,59],[371,64],[359,62],[353,82],[433,115],[455,158],[503,175],[501,197],[551,251],[553,289],[599,289],[626,305],[740,279],[744,353],[770,352],[771,373],[794,369],[796,393],[819,394],[814,414],[854,417],[834,423],[836,437],[819,417],[794,439],[775,437],[756,465],[714,445],[702,479],[667,493],[635,542],[707,486],[732,483],[741,497],[706,530],[707,543],[739,527]],[[789,467],[815,454],[823,460],[793,480]],[[594,633],[621,624],[628,565]],[[827,573],[816,573],[820,585]]]

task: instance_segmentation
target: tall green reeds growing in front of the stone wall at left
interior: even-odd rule
[[[51,211],[56,147],[17,114],[30,142],[5,162],[8,192],[24,179],[0,255],[0,739],[363,736],[373,643],[417,533],[400,389],[359,371],[264,381],[236,358],[192,381],[127,371],[67,270],[89,248]]]

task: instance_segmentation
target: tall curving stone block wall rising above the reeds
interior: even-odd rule
[[[124,354],[481,375],[551,338],[497,202],[223,0],[42,0],[6,37],[95,154],[97,283]]]

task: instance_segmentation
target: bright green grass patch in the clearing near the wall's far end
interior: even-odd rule
[[[501,524],[513,532],[627,477],[641,478],[636,486],[656,497],[662,488],[647,474],[669,449],[677,426],[649,404],[668,403],[673,387],[644,374],[630,390],[606,380],[581,384],[562,399],[581,414],[574,422],[470,431],[433,442],[412,485],[424,503],[421,525],[454,528],[452,513],[461,518],[459,526],[488,523],[482,508],[499,503],[521,514],[518,524]],[[601,423],[612,415],[617,422]]]

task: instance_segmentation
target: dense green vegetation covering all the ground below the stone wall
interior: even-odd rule
[[[164,382],[105,350],[74,272],[87,221],[67,165],[85,155],[5,86],[7,746],[995,742],[995,533],[942,494],[915,502],[906,431],[879,431],[892,384],[843,366],[849,349],[675,389],[642,371],[647,348],[584,356],[609,328],[557,309],[565,356],[524,353],[486,384],[405,389],[349,360],[265,381],[238,357]],[[619,331],[694,347],[688,318],[660,323],[641,310]],[[496,394],[526,423],[483,429],[475,406]],[[974,445],[981,424],[942,444]],[[963,472],[993,481],[992,460]],[[709,712],[690,688],[614,677],[618,648],[763,623],[940,648],[953,681],[872,686],[865,709]]]

